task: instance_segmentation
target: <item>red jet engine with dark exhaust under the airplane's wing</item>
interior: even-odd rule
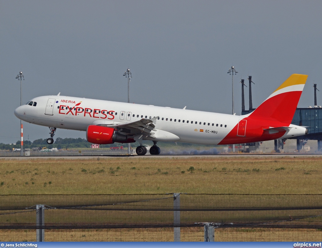
[[[87,141],[94,144],[113,144],[114,142],[119,143],[132,143],[135,142],[133,138],[119,134],[117,129],[90,125],[86,131]]]

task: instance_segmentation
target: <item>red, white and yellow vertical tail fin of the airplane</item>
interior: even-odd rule
[[[307,78],[308,75],[292,74],[249,117],[290,124]]]

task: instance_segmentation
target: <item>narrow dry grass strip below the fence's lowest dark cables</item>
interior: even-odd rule
[[[1,230],[0,241],[6,242],[35,242],[35,230]],[[181,228],[181,241],[204,241],[203,227]],[[220,228],[215,230],[217,242],[320,242],[322,232],[311,229],[284,229],[284,228]],[[173,241],[173,228],[136,228],[136,229],[69,229],[45,230],[45,241]]]

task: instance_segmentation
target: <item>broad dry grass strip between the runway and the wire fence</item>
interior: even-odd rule
[[[0,163],[1,194],[322,192],[318,157],[36,158]]]

